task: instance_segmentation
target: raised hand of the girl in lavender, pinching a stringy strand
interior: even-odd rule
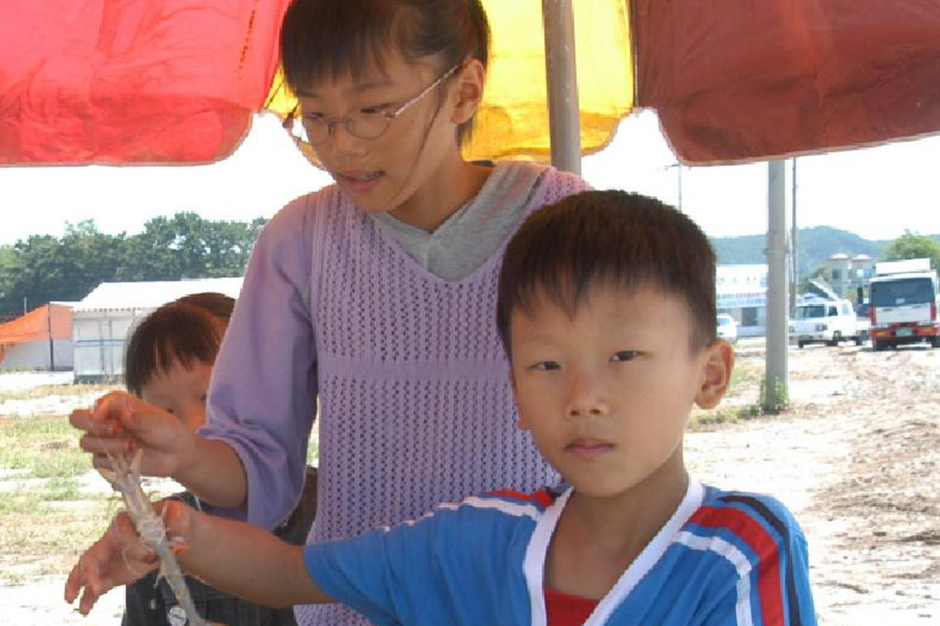
[[[110,468],[108,455],[139,447],[142,474],[173,476],[196,446],[197,435],[176,417],[123,391],[102,396],[90,411],[73,411],[69,422],[85,431],[79,445],[92,453],[96,468]]]

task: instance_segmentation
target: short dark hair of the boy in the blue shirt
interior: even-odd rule
[[[715,340],[715,252],[691,219],[655,198],[586,191],[539,209],[509,242],[499,277],[496,324],[506,354],[513,311],[549,297],[574,312],[591,287],[644,286],[688,306],[691,349]]]

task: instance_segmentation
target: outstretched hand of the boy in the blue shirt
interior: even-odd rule
[[[72,568],[65,582],[65,601],[71,604],[83,592],[78,611],[88,615],[106,592],[142,578],[156,566],[156,556],[140,542],[133,522],[122,511]]]

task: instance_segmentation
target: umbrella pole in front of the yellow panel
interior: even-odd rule
[[[552,165],[581,173],[581,111],[571,0],[542,0]]]

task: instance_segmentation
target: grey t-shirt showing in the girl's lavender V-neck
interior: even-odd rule
[[[428,232],[388,213],[374,215],[379,228],[419,265],[444,280],[466,278],[499,249],[518,225],[545,167],[498,161],[479,193]]]

